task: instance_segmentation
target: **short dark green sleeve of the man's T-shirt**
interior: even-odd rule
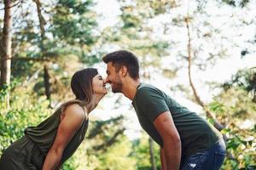
[[[165,111],[169,111],[166,100],[159,90],[143,87],[137,90],[137,107],[148,117],[150,122]]]

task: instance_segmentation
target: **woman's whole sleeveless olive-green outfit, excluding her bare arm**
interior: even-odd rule
[[[79,104],[79,103],[78,103]],[[76,105],[76,104],[73,104]],[[81,106],[82,107],[82,106]],[[85,113],[84,113],[85,114]],[[81,127],[74,134],[73,139],[67,144],[61,156],[61,166],[70,156],[73,155],[79,144],[84,139],[88,128],[88,119],[85,118]],[[42,169],[44,159],[50,147],[55,142],[58,127],[61,123],[61,108],[58,108],[52,116],[49,116],[37,127],[26,127],[25,136],[17,140],[7,150],[4,155],[11,158],[6,160],[3,156],[0,161],[2,169]],[[9,161],[11,161],[9,163]]]

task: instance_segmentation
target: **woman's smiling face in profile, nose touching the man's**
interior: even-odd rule
[[[104,80],[100,74],[97,74],[92,79],[92,88],[94,91],[94,94],[107,94],[108,91],[105,87]]]

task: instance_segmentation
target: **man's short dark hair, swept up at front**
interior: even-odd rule
[[[129,51],[119,50],[113,53],[105,55],[102,60],[104,63],[112,62],[115,68],[115,71],[119,71],[120,68],[125,65],[129,75],[133,79],[139,77],[139,62],[137,57]]]

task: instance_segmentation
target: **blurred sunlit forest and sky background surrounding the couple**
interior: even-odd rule
[[[73,99],[74,71],[104,70],[104,54],[128,49],[144,82],[188,99],[224,133],[222,169],[255,169],[255,7],[253,0],[1,0],[0,156],[25,127]],[[98,112],[108,118],[90,115],[84,143],[62,169],[160,169],[159,146],[140,127],[139,138],[127,133],[127,115],[136,114],[130,103],[117,110],[126,103],[119,94],[103,99]]]

